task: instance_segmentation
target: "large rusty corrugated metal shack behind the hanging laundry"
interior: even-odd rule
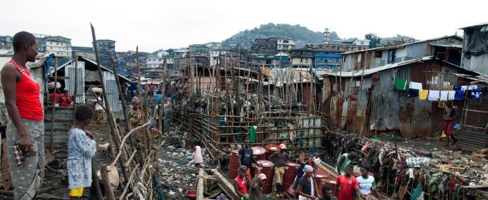
[[[444,82],[451,86],[469,83],[457,73],[478,75],[432,56],[373,69],[328,73],[323,75],[323,83],[330,88],[330,96],[325,99],[323,112],[329,113],[329,119],[338,127],[360,135],[394,130],[405,138],[429,136],[442,129],[439,102],[408,97],[408,92],[395,90],[395,80],[420,82],[428,90],[443,90]],[[453,103],[464,105],[462,100]]]

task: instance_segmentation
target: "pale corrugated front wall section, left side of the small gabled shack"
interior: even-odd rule
[[[71,64],[64,67],[64,71],[66,73],[66,77],[69,79],[64,80],[66,83],[66,87],[69,88],[69,93],[74,95],[75,92],[75,63],[72,62]],[[76,102],[77,103],[84,103],[84,62],[78,61],[78,80],[76,80]]]

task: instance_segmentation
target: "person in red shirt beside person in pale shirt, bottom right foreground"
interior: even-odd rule
[[[352,200],[354,197],[361,199],[358,181],[352,176],[352,165],[347,165],[344,175],[337,176],[336,194],[338,200]]]

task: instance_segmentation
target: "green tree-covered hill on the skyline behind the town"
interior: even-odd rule
[[[262,24],[259,28],[256,27],[251,30],[244,30],[233,35],[222,42],[222,47],[231,48],[233,46],[240,45],[244,48],[251,48],[254,39],[266,37],[295,39],[296,47],[298,48],[308,43],[322,44],[323,42],[323,33],[311,31],[307,27],[300,26],[298,24],[289,25],[269,23]],[[332,31],[330,33],[330,40],[334,41],[337,39],[340,39],[337,33]]]

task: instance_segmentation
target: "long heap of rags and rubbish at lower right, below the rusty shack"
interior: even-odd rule
[[[488,149],[472,154],[438,150],[424,152],[406,149],[395,143],[372,138],[365,140],[354,134],[327,134],[329,157],[325,162],[335,166],[343,153],[360,152],[359,165],[370,165],[377,188],[394,199],[461,199],[482,195],[488,188]],[[472,190],[476,188],[477,190]]]

